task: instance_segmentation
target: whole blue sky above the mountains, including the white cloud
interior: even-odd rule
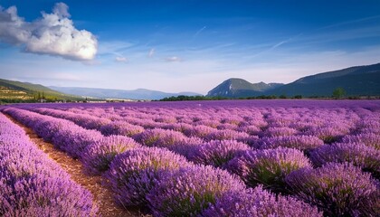
[[[380,62],[378,0],[0,5],[3,79],[205,94],[229,78],[288,83]]]

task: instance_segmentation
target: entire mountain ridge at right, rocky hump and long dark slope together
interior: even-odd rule
[[[245,98],[260,95],[294,97],[330,97],[337,88],[346,96],[380,96],[380,63],[355,66],[339,71],[328,71],[300,78],[289,84],[250,83],[242,79],[224,80],[210,90],[207,96]]]

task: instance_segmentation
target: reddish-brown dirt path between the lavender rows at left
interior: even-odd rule
[[[101,176],[90,176],[82,173],[83,165],[79,160],[74,160],[70,156],[67,156],[64,152],[54,148],[52,144],[43,141],[43,138],[38,137],[31,128],[24,127],[23,124],[16,121],[9,115],[5,116],[10,118],[15,124],[22,127],[26,134],[31,138],[33,143],[37,145],[47,156],[61,165],[62,168],[71,175],[71,179],[81,184],[84,188],[88,189],[94,196],[94,201],[99,205],[99,211],[101,216],[105,217],[128,217],[128,216],[143,216],[138,211],[126,211],[119,208],[116,203],[113,202],[112,193],[108,188],[101,185]]]

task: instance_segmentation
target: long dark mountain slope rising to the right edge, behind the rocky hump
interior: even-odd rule
[[[266,94],[328,97],[337,88],[343,88],[347,96],[380,96],[380,63],[303,77]]]

